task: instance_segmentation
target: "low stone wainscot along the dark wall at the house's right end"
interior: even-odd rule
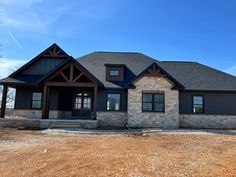
[[[181,114],[181,128],[236,129],[236,115],[193,115]]]

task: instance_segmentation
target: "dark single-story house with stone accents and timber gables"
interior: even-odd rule
[[[236,128],[236,77],[197,62],[158,61],[137,52],[93,52],[75,59],[53,44],[0,84],[2,118],[12,87],[17,117]]]

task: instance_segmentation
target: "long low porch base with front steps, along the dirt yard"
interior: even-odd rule
[[[0,127],[47,129],[47,128],[97,128],[97,120],[59,120],[59,119],[31,119],[4,118],[0,119]]]

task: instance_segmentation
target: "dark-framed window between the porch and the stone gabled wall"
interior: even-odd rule
[[[108,111],[120,110],[120,94],[119,93],[107,94],[107,110]]]

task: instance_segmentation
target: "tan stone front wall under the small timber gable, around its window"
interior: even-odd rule
[[[179,127],[179,92],[171,90],[173,84],[164,77],[144,76],[128,90],[128,125],[130,127]],[[165,113],[142,112],[142,92],[164,92]]]

